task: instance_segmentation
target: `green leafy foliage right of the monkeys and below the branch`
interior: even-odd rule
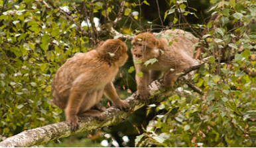
[[[175,13],[175,5],[186,8],[183,1],[172,3],[165,17]],[[211,3],[214,6],[210,11],[218,17],[206,25],[208,33],[203,36],[206,40],[201,41],[206,44],[203,57],[210,58],[192,79],[203,94],[182,85],[166,101],[149,105],[147,112],[157,110],[159,115],[149,122],[145,133],[137,136],[136,146],[249,147],[255,144],[256,62],[255,46],[251,44],[255,42],[255,26],[251,24],[255,20],[255,2]]]

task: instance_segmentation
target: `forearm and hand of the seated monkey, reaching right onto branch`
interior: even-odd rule
[[[117,106],[117,108],[120,108],[120,109],[129,108],[129,104],[125,100],[121,100],[118,97],[113,83],[108,83],[105,86],[103,93],[105,94],[105,96],[107,96],[107,98],[109,98],[109,100],[111,100],[111,102],[113,102],[113,104],[115,104],[115,106]]]

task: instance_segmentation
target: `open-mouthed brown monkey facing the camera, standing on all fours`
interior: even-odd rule
[[[198,38],[189,32],[179,29],[166,30],[159,34],[161,33],[170,34],[172,37],[168,39],[161,37],[157,40],[153,34],[145,32],[135,36],[131,42],[133,45],[131,53],[134,61],[142,61],[141,63],[135,62],[137,99],[145,103],[148,102],[149,95],[147,85],[151,81],[159,79],[162,73],[165,73],[163,85],[167,89],[172,89],[174,81],[179,77],[179,73],[182,73],[184,69],[192,65],[196,65],[194,61],[196,47],[192,45],[199,41]],[[170,46],[169,42],[172,42]],[[157,59],[155,63],[145,65],[146,61],[154,58]],[[139,72],[143,73],[143,77],[137,75]]]

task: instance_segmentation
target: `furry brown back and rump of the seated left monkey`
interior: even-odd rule
[[[107,62],[99,58],[96,50],[74,55],[54,75],[52,80],[53,103],[64,110],[74,81],[84,81],[86,86],[83,86],[81,89],[90,89],[91,84],[97,85],[96,89],[102,89],[107,83],[113,81],[117,70],[113,69],[113,67],[109,68]],[[113,71],[113,75],[105,75],[109,71]],[[80,75],[88,75],[88,79],[80,80]]]

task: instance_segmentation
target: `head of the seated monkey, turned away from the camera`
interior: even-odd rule
[[[97,48],[97,52],[110,65],[117,67],[123,66],[128,59],[127,45],[118,38],[101,42]]]

